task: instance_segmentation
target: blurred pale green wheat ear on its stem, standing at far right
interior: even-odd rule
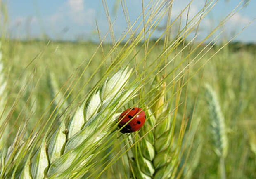
[[[209,119],[211,122],[211,137],[213,139],[214,151],[220,158],[220,176],[225,179],[224,160],[228,152],[228,137],[226,135],[225,119],[220,109],[215,91],[210,85],[206,85],[206,99],[209,108]]]

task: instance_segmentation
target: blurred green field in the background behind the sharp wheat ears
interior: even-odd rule
[[[69,111],[72,113],[92,87],[102,79],[111,62],[117,57],[116,54],[123,47],[126,47],[125,41],[122,42],[103,62],[102,59],[112,48],[110,40],[102,43],[102,46],[97,50],[99,42],[95,42],[94,39],[73,40],[71,42],[58,38],[58,35],[53,40],[50,35],[38,40],[34,37],[25,40],[23,38],[11,38],[8,35],[2,37],[2,62],[5,67],[5,79],[7,79],[5,108],[13,108],[9,119],[10,132],[7,146],[12,144],[17,130],[24,121],[29,119],[26,131],[26,137],[28,137],[34,129],[35,123],[44,115],[45,111],[46,116],[49,116],[50,111],[58,105],[58,102],[65,101],[65,98],[66,101],[63,102],[63,106],[58,106],[59,113],[69,108],[69,104],[74,104]],[[189,44],[189,40],[189,38],[184,40],[168,56],[168,59],[175,58],[167,66],[166,71],[172,71],[179,61],[190,53],[190,48],[186,48],[177,55],[185,45]],[[150,89],[155,78],[154,74],[164,66],[161,64],[158,69],[155,69],[155,66],[149,65],[159,57],[164,49],[164,39],[156,44],[155,42],[154,38],[149,40],[149,49],[150,47],[154,48],[147,55],[145,68],[148,73],[150,71],[154,73],[150,74],[149,82],[143,84],[146,90]],[[204,47],[209,49],[206,55],[200,55],[202,58],[189,67],[190,71],[187,75],[191,79],[187,85],[187,94],[181,96],[181,101],[185,101],[187,98],[186,111],[183,111],[183,103],[177,114],[178,122],[176,125],[178,126],[183,118],[183,113],[190,116],[194,110],[193,120],[188,120],[188,124],[191,125],[195,135],[192,139],[190,133],[185,132],[185,139],[191,143],[188,143],[189,145],[184,148],[185,154],[189,153],[189,157],[187,159],[185,159],[186,155],[181,157],[179,167],[184,167],[181,178],[216,179],[220,176],[219,158],[213,150],[212,133],[209,128],[211,121],[207,108],[206,84],[209,84],[216,92],[225,119],[228,138],[228,152],[225,158],[226,177],[228,179],[256,178],[256,44],[238,40],[225,45],[226,42],[227,40],[223,37],[211,49],[206,47],[208,43],[205,42],[187,59],[191,61]],[[191,47],[198,44],[199,42],[195,42]],[[143,42],[139,43],[135,47],[136,54],[131,53],[121,66],[129,64],[129,67],[134,68],[137,74],[141,74],[144,70],[141,59],[145,55],[142,45]],[[215,54],[221,47],[223,49]],[[90,62],[89,68],[81,75],[93,55],[95,56]],[[101,63],[102,65],[100,65]],[[186,65],[187,61],[175,69],[174,74],[178,75],[179,71],[184,69]],[[137,78],[136,73],[131,76],[130,82]],[[81,80],[70,91],[70,87],[74,85],[73,82],[79,75],[81,75]],[[89,78],[92,80],[84,86],[84,82]],[[166,82],[172,79],[173,76],[168,76]],[[70,92],[69,96],[67,96],[68,92]],[[170,97],[171,90],[166,95],[167,98]],[[52,103],[53,99],[55,99],[54,105],[50,106],[49,104]],[[47,117],[45,117],[46,119]],[[45,121],[43,120],[43,122]],[[54,126],[57,127],[57,125]],[[118,161],[113,165],[115,170],[120,170],[114,176],[115,178],[122,178],[120,172],[123,169],[119,166],[120,163],[121,161]],[[111,170],[113,169],[108,169],[101,177],[113,177],[115,172]]]

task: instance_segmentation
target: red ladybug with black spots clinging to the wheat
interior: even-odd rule
[[[132,120],[131,120],[132,119]],[[146,114],[141,108],[129,108],[123,111],[118,119],[118,127],[122,133],[130,133],[139,130],[146,120]],[[130,122],[129,122],[130,121]]]

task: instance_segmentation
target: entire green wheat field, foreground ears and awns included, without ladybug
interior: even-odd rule
[[[222,36],[249,2],[204,38],[200,23],[218,0],[171,20],[172,2],[145,4],[120,37],[106,22],[99,42],[2,35],[0,178],[256,178],[256,45],[232,41],[251,22]],[[146,122],[122,134],[116,122],[131,107]]]

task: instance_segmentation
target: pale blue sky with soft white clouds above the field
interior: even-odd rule
[[[121,4],[114,10],[116,0],[106,0],[111,16],[115,21],[114,34],[119,37],[126,28]],[[144,0],[144,5],[149,0]],[[176,0],[173,3],[172,19],[187,5],[188,0]],[[240,1],[219,0],[201,23],[200,33],[206,34],[220,22]],[[43,38],[44,35],[55,40],[96,40],[95,20],[101,36],[108,30],[107,19],[101,0],[8,0],[8,32],[12,38]],[[133,22],[142,11],[141,0],[126,0]],[[190,18],[204,5],[204,0],[194,0],[190,7]],[[256,17],[256,0],[235,14],[225,25],[224,36],[230,38],[249,21]],[[185,21],[186,14],[183,15]],[[235,40],[256,42],[256,22],[254,21]],[[160,33],[160,32],[159,32]],[[155,36],[157,36],[157,32]]]

